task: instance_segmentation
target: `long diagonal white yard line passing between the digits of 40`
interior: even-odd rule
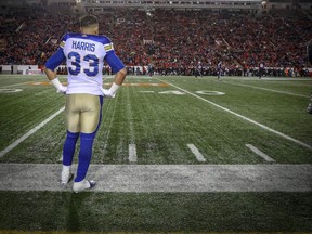
[[[155,78],[155,79],[157,79],[157,78]],[[159,79],[159,80],[160,80],[160,79]],[[167,82],[167,81],[164,81],[164,80],[160,80],[160,81]],[[270,127],[268,127],[268,126],[264,126],[264,125],[262,125],[262,123],[260,123],[260,122],[257,122],[257,121],[255,121],[255,120],[252,120],[252,119],[250,119],[250,118],[247,118],[247,117],[245,117],[245,116],[243,116],[243,115],[240,115],[240,114],[238,114],[238,113],[235,113],[235,112],[233,112],[233,110],[231,110],[231,109],[229,109],[229,108],[225,108],[225,107],[223,107],[223,106],[221,106],[221,105],[218,105],[217,103],[213,103],[213,102],[211,102],[211,101],[209,101],[209,100],[206,100],[206,99],[204,99],[204,98],[202,98],[202,96],[199,96],[199,95],[196,95],[196,94],[194,94],[194,93],[192,93],[192,92],[190,92],[190,91],[187,91],[187,90],[185,90],[185,89],[182,89],[182,88],[180,88],[180,87],[178,87],[178,86],[174,86],[173,83],[170,83],[170,82],[167,82],[167,83],[170,84],[170,86],[172,86],[172,87],[174,87],[174,88],[177,88],[177,89],[179,89],[179,90],[182,90],[183,92],[186,92],[186,93],[188,93],[190,95],[193,95],[193,96],[195,96],[195,98],[197,98],[197,99],[199,99],[199,100],[202,100],[202,101],[204,101],[204,102],[207,102],[207,103],[209,103],[209,104],[211,104],[211,105],[213,105],[213,106],[216,106],[216,107],[218,107],[218,108],[221,108],[221,109],[223,109],[223,110],[225,110],[225,112],[227,112],[227,113],[231,113],[232,115],[235,115],[235,116],[237,116],[237,117],[239,117],[239,118],[243,118],[243,119],[246,120],[246,121],[249,121],[249,122],[251,122],[251,123],[253,123],[253,125],[257,125],[257,126],[259,126],[260,128],[265,129],[266,131],[273,132],[273,133],[275,133],[275,134],[277,134],[277,135],[280,135],[280,136],[282,136],[282,138],[284,138],[284,139],[287,139],[287,140],[289,140],[289,141],[292,141],[292,142],[295,142],[296,144],[299,144],[299,145],[301,145],[301,146],[303,146],[303,147],[309,148],[309,150],[312,151],[312,146],[309,145],[309,144],[307,144],[307,143],[304,143],[304,142],[301,142],[301,141],[299,141],[299,140],[297,140],[297,139],[294,139],[294,138],[291,138],[291,136],[289,136],[289,135],[287,135],[287,134],[284,134],[283,132],[276,131],[276,130],[274,130],[274,129],[272,129],[272,128],[270,128]]]

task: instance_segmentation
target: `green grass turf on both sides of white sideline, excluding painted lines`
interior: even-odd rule
[[[47,79],[0,76],[0,88],[23,89],[0,93],[0,151],[64,106],[64,96],[56,94],[51,86],[29,83]],[[164,82],[176,87],[142,86]],[[126,83],[115,99],[105,101],[92,164],[130,164],[131,143],[136,144],[138,164],[198,164],[186,146],[188,143],[199,148],[207,164],[265,164],[246,143],[257,146],[277,164],[312,162],[311,150],[202,100],[311,145],[312,116],[306,108],[312,80],[227,77],[217,82],[213,77],[129,77]],[[207,91],[225,95],[208,95]],[[64,114],[60,114],[0,157],[0,162],[54,164],[61,157],[65,133]],[[1,191],[0,230],[312,232],[311,197],[311,193]]]

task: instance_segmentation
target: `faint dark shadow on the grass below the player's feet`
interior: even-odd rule
[[[65,230],[69,232],[81,231],[80,219],[84,217],[86,213],[82,204],[86,198],[90,196],[90,193],[65,193],[68,203],[67,217],[65,220]]]

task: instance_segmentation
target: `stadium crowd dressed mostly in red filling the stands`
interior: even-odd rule
[[[150,65],[164,75],[213,75],[222,62],[226,75],[256,75],[260,63],[272,76],[310,75],[312,22],[304,14],[121,9],[102,13],[99,21],[130,74]],[[79,31],[77,22],[44,12],[0,17],[0,64],[44,64],[62,35]]]

